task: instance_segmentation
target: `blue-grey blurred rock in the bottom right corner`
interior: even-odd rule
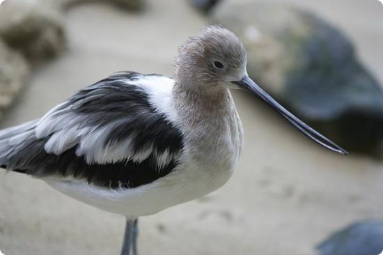
[[[317,247],[319,255],[368,255],[383,251],[383,222],[352,224]]]

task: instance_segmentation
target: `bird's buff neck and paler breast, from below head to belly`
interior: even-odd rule
[[[232,176],[242,146],[242,124],[228,89],[186,92],[182,84],[173,90],[184,144],[178,173],[187,176],[188,187],[207,194]]]

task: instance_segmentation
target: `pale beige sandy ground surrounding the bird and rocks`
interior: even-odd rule
[[[345,29],[383,83],[380,3],[290,1]],[[150,0],[140,15],[91,4],[68,16],[68,52],[36,70],[3,127],[38,118],[116,70],[171,75],[176,48],[205,24],[185,1],[175,0]],[[235,99],[246,132],[235,175],[203,199],[141,218],[141,254],[310,254],[334,229],[382,218],[382,163],[329,153],[249,95],[235,93]],[[0,173],[0,249],[6,255],[118,254],[123,227],[123,217],[40,180]]]

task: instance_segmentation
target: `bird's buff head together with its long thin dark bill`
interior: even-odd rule
[[[194,89],[202,93],[214,93],[226,88],[249,91],[265,101],[307,137],[329,150],[347,154],[343,148],[303,123],[263,91],[247,75],[246,65],[247,54],[240,39],[223,26],[208,26],[180,47],[176,59],[175,81],[185,84],[185,89]]]

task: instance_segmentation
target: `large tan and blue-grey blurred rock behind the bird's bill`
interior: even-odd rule
[[[212,17],[247,48],[249,75],[347,150],[382,155],[383,92],[341,31],[272,3],[224,3]]]

